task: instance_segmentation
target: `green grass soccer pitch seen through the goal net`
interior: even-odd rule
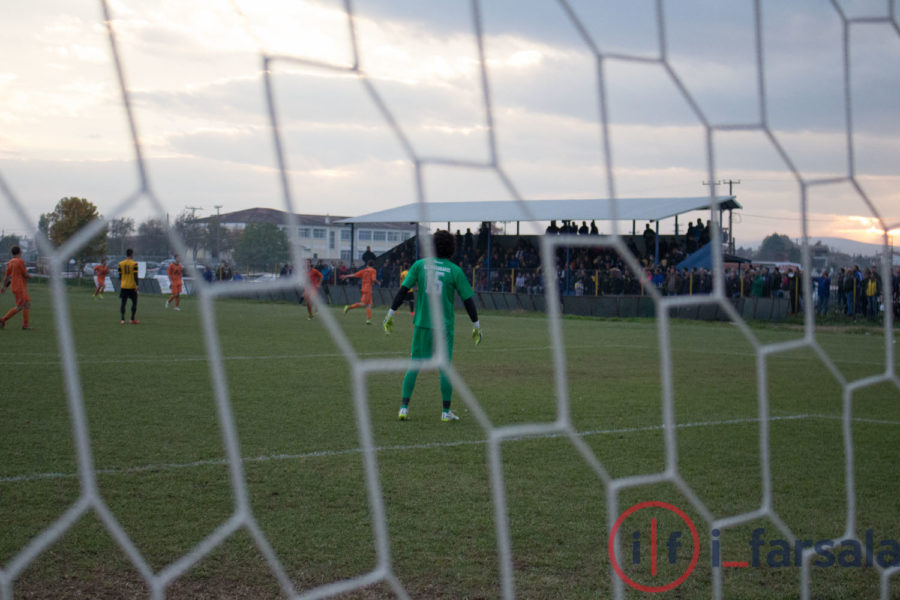
[[[49,288],[32,284],[30,291],[35,331],[19,330],[17,317],[0,332],[4,574],[18,571],[29,543],[81,497]],[[202,315],[194,298],[174,312],[164,309],[164,297],[142,295],[141,324],[129,326],[119,324],[119,301],[112,294],[95,301],[88,288],[73,287],[66,300],[93,467],[109,514],[86,511],[4,591],[16,598],[147,597],[148,586],[123,543],[133,544],[132,559],[145,561],[152,573],[173,563],[180,568],[176,561],[192,556],[235,512]],[[4,306],[8,302],[3,299]],[[238,493],[248,494],[255,522],[273,551],[270,559],[277,557],[298,594],[365,576],[378,565],[379,520],[366,486],[352,365],[321,316],[307,321],[304,307],[244,300],[219,300],[214,306],[243,457],[246,485],[238,486]],[[405,307],[392,336],[378,326],[383,307],[375,309],[372,326],[365,325],[363,311],[323,310],[332,311],[358,360],[407,355],[411,319]],[[475,347],[467,335],[468,319],[458,313],[454,366],[492,431],[552,423],[560,397],[546,316],[480,316],[485,338]],[[838,547],[834,564],[809,568],[810,597],[900,597],[900,578],[883,580],[881,568],[866,566],[865,548],[871,530],[877,562],[879,551],[891,547],[880,541],[900,539],[897,387],[883,382],[854,389],[849,446],[842,418],[850,389],[845,383],[885,371],[883,331],[821,330],[818,348],[760,353],[758,348],[801,340],[802,331],[753,326],[748,339],[729,323],[670,322],[677,425],[667,451],[658,329],[651,320],[564,318],[564,387],[575,437],[583,446],[562,434],[508,439],[500,446],[501,473],[490,467],[491,431],[479,425],[459,394],[454,411],[462,419],[440,422],[435,372],[420,375],[408,422],[396,420],[402,372],[368,375],[366,408],[390,541],[387,558],[411,597],[502,595],[492,496],[498,483],[520,598],[601,598],[616,586],[628,598],[650,596],[621,583],[608,551],[612,520],[648,501],[680,508],[696,525],[700,542],[696,567],[661,597],[711,597],[721,583],[726,598],[796,598],[804,576],[795,560],[796,540],[843,540],[850,498],[855,502],[850,533],[861,542],[862,556],[852,556],[850,545],[844,547],[849,554]],[[763,449],[761,395],[769,417]],[[579,447],[598,462],[592,465]],[[662,473],[667,461],[685,485],[640,479]],[[615,494],[597,465],[617,482]],[[734,526],[718,522],[726,526],[718,535],[712,531],[712,520],[760,509],[767,491],[774,519],[761,515]],[[654,575],[649,524],[640,536],[634,534],[639,516],[634,513],[620,529],[622,569],[647,586],[676,580],[691,559],[691,539],[687,533],[680,538],[674,562],[666,544],[670,531],[684,529],[685,521],[656,508]],[[118,523],[127,539],[117,543],[110,522]],[[760,528],[764,545],[757,547],[759,564],[753,564],[751,542]],[[168,597],[284,597],[272,561],[251,533],[239,528],[222,536],[174,580]],[[722,563],[751,564],[714,569],[716,555]],[[811,560],[824,558],[823,550]],[[378,582],[342,597],[396,595]]]

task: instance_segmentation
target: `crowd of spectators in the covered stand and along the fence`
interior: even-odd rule
[[[547,234],[599,235],[596,224],[582,221],[552,221]],[[712,292],[712,273],[705,268],[678,268],[686,256],[709,243],[709,222],[698,219],[682,236],[659,236],[648,223],[640,235],[623,236],[628,252],[640,266],[640,274],[626,265],[618,250],[601,245],[567,245],[561,242],[555,249],[555,272],[548,277],[541,264],[535,236],[491,235],[490,224],[483,223],[477,233],[471,228],[465,233],[456,231],[456,253],[453,261],[465,272],[476,291],[542,294],[548,282],[563,295],[643,295],[649,286],[665,296],[709,294]],[[415,238],[407,244],[376,257],[367,248],[361,264],[375,263],[381,287],[400,285],[401,273],[416,260]],[[654,252],[658,249],[660,260]],[[360,264],[337,261],[331,264],[319,260],[314,266],[322,273],[327,285],[354,285],[342,280]],[[292,272],[291,265],[282,268],[281,275]],[[900,316],[900,286],[898,275],[890,285],[889,304]],[[825,316],[831,311],[843,315],[876,319],[883,310],[884,286],[876,268],[822,271],[814,276],[812,301],[816,314]],[[803,282],[799,270],[778,266],[752,264],[729,266],[725,269],[725,293],[729,298],[785,298],[789,310],[796,313],[803,307]],[[327,293],[327,289],[326,289]]]

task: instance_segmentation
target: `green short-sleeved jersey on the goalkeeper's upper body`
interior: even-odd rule
[[[472,297],[472,286],[466,279],[465,273],[456,264],[446,258],[423,258],[413,263],[409,273],[402,283],[403,287],[413,289],[419,286],[420,292],[427,296],[438,294],[441,312],[444,317],[444,329],[448,334],[453,333],[455,315],[453,313],[454,295],[459,293],[460,299],[465,302]],[[431,324],[431,305],[428,297],[419,297],[416,303],[416,316],[413,324],[416,327],[434,329]]]

